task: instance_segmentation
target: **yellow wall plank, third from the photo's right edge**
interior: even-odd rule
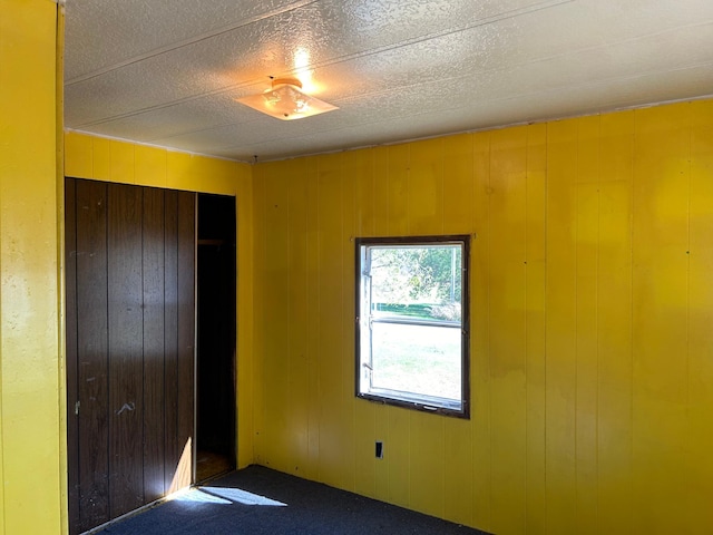
[[[634,113],[602,117],[597,488],[600,533],[632,527],[632,172]]]

